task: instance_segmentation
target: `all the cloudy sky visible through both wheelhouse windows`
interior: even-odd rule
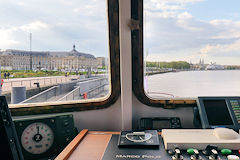
[[[144,0],[148,61],[240,65],[239,0]],[[0,0],[0,49],[108,57],[105,0]]]

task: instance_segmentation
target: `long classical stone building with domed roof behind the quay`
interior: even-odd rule
[[[69,52],[36,52],[8,49],[0,52],[2,69],[11,70],[80,70],[96,69],[97,59],[86,53],[78,52],[73,46]]]

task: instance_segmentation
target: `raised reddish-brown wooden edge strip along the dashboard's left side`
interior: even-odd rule
[[[88,130],[82,130],[72,141],[67,145],[67,147],[57,156],[55,160],[66,160],[71,155],[71,153],[75,150],[84,136],[87,134]]]

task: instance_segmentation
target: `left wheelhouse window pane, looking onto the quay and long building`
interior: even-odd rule
[[[106,4],[102,0],[0,2],[0,91],[9,104],[109,97]]]

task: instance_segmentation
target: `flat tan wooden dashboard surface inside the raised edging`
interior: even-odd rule
[[[95,132],[87,134],[78,147],[72,152],[68,160],[100,160],[111,139],[111,134]]]

